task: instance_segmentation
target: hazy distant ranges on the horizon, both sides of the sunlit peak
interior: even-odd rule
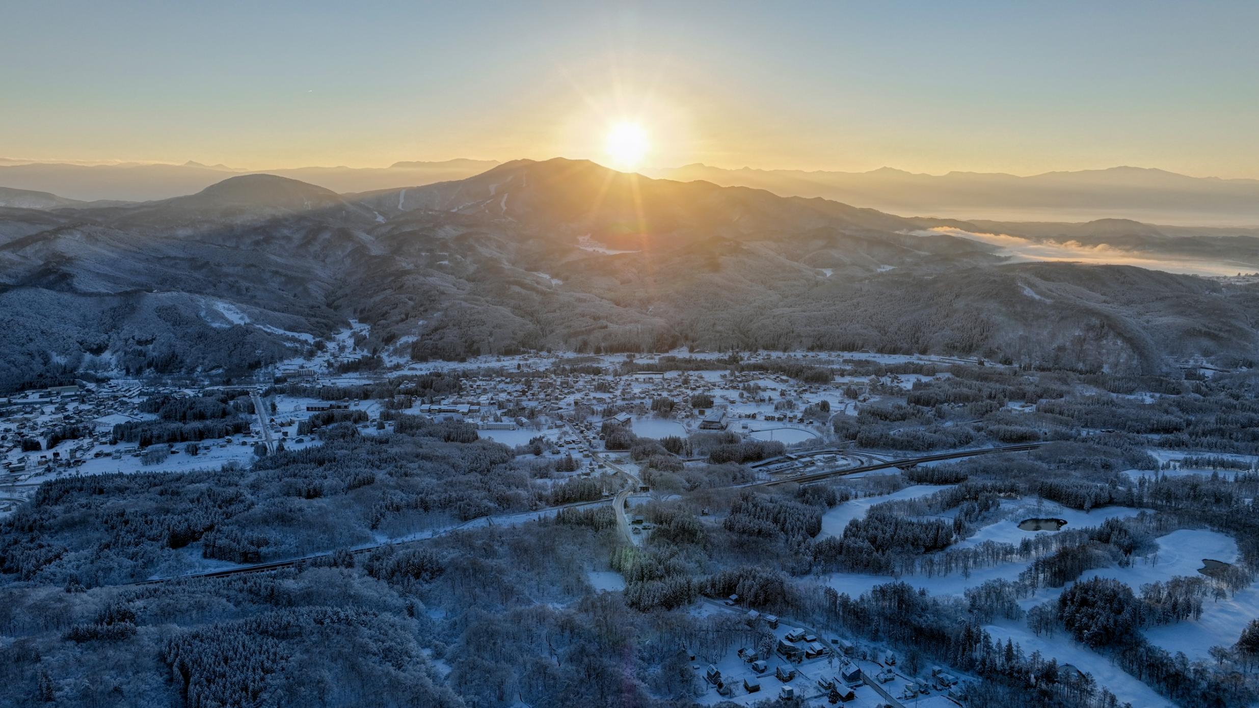
[[[150,201],[199,191],[225,174],[269,174],[340,194],[423,186],[478,175],[492,160],[395,162],[389,167],[235,170],[225,165],[81,165],[0,158],[0,186],[78,201]],[[1046,172],[920,175],[884,167],[870,172],[725,170],[706,165],[650,176],[763,189],[779,196],[823,197],[891,214],[997,221],[1129,219],[1191,226],[1259,226],[1259,180],[1188,177],[1163,170],[1112,167]],[[0,194],[0,204],[11,204]],[[72,205],[72,204],[67,204]]]

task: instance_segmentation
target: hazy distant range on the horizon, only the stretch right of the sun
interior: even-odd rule
[[[1259,180],[1188,177],[1141,167],[1020,177],[983,172],[922,175],[891,167],[870,172],[725,170],[696,163],[653,176],[821,196],[922,216],[1005,221],[1126,218],[1178,225],[1259,225]]]

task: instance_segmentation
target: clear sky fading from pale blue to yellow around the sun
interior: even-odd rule
[[[256,5],[266,5],[264,8]],[[98,3],[0,13],[0,156],[1259,177],[1259,3]]]

